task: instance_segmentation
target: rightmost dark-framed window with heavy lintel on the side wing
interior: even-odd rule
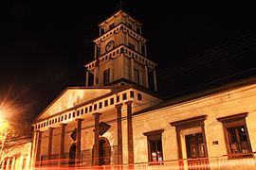
[[[225,140],[229,158],[251,156],[251,146],[247,133],[247,112],[227,117],[217,118],[224,127]]]

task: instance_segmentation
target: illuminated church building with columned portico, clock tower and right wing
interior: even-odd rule
[[[165,100],[142,24],[119,10],[99,26],[85,86],[33,121],[32,167],[255,168],[255,79]]]

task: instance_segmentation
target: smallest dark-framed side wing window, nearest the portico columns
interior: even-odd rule
[[[149,161],[163,161],[162,132],[163,129],[143,133],[148,140]]]

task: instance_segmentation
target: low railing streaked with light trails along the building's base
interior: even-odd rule
[[[68,164],[71,160],[62,160],[64,164]],[[51,160],[49,162],[54,162]],[[56,161],[55,161],[56,162]],[[49,163],[50,164],[50,163]],[[112,164],[92,166],[85,165],[81,161],[74,162],[69,166],[41,166],[34,169],[101,169],[101,170],[253,170],[256,169],[256,160],[254,155],[241,159],[230,159],[228,156],[203,158],[203,159],[186,159],[173,161],[154,161],[139,162],[134,164]]]

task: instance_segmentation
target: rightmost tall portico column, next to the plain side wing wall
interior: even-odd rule
[[[125,102],[127,105],[127,138],[128,138],[128,163],[134,163],[134,140],[133,140],[133,117],[132,101]]]

